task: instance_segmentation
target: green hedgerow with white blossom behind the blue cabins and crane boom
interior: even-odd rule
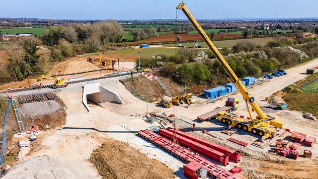
[[[252,76],[259,78],[271,74],[278,69],[293,67],[318,57],[318,41],[309,40],[302,45],[287,46],[286,43],[299,41],[277,40],[268,42],[266,46],[255,46],[250,42],[239,42],[233,49],[222,49],[220,52],[239,78]],[[273,43],[276,45],[273,46]],[[171,78],[178,84],[187,81],[189,85],[210,84],[224,85],[229,83],[228,74],[216,59],[206,59],[204,63],[188,64],[189,58],[182,54],[177,56],[183,59],[182,65],[177,68],[174,61],[164,62],[159,75]],[[213,57],[210,55],[209,57]],[[174,59],[175,56],[167,57]]]

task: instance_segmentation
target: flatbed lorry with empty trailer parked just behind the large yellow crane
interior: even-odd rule
[[[202,115],[198,116],[197,119],[200,121],[210,121],[210,120],[215,119],[215,117],[217,116],[217,114],[219,112],[221,112],[221,111],[228,111],[228,112],[235,111],[238,109],[238,107],[239,107],[239,99],[229,97],[227,99],[227,101],[225,101],[224,106],[219,107],[217,109],[214,109],[214,110],[207,112],[205,114],[202,114]]]

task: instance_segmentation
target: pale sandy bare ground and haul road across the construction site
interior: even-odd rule
[[[307,77],[307,75],[302,73],[305,73],[308,68],[317,66],[318,59],[301,64],[298,67],[288,69],[288,75],[264,82],[262,85],[249,89],[249,91],[266,113],[283,121],[284,128],[317,137],[317,121],[305,119],[302,113],[297,111],[267,109],[265,106],[268,106],[268,103],[264,101],[265,97]],[[192,123],[195,122],[197,129],[204,128],[208,132],[217,135],[219,139],[215,140],[206,134],[201,134],[200,131],[195,131],[195,135],[242,151],[241,162],[238,164],[230,162],[230,165],[224,168],[230,170],[234,166],[240,166],[243,172],[239,176],[243,178],[287,179],[299,178],[299,176],[308,179],[318,178],[316,172],[318,167],[318,144],[315,144],[312,148],[302,146],[298,150],[300,154],[302,154],[301,151],[303,150],[311,150],[313,152],[312,159],[301,157],[295,161],[268,153],[269,147],[260,149],[248,145],[245,148],[225,140],[232,137],[243,142],[252,143],[259,137],[251,133],[239,130],[237,134],[229,136],[221,133],[227,126],[219,121],[199,122],[196,120],[197,116],[213,110],[215,107],[223,106],[226,97],[215,103],[206,103],[206,99],[194,97],[198,102],[191,105],[190,108],[186,108],[185,105],[162,108],[154,102],[146,103],[138,99],[118,80],[105,80],[101,82],[101,85],[118,93],[125,104],[111,102],[102,103],[101,105],[89,104],[91,112],[88,113],[81,102],[82,89],[80,86],[55,90],[66,105],[66,124],[57,129],[43,131],[40,134],[42,136],[41,147],[36,152],[24,156],[24,162],[14,167],[4,178],[40,178],[41,176],[46,176],[47,179],[53,179],[57,176],[66,176],[66,178],[74,178],[74,176],[101,178],[97,174],[98,169],[96,170],[88,160],[93,150],[105,142],[105,139],[115,139],[140,150],[151,159],[164,163],[174,171],[177,178],[183,179],[182,166],[185,163],[136,135],[141,129],[156,130],[160,127],[157,122],[150,124],[139,117],[139,115],[143,116],[147,110],[149,112],[162,111],[165,114],[175,113],[177,117],[182,119],[178,120],[177,128],[191,131]],[[239,110],[236,113],[248,116],[241,95],[238,93],[232,95],[232,97],[237,97],[240,101]],[[168,126],[171,126],[171,124]],[[273,145],[274,141],[275,139],[271,140],[271,145]],[[273,170],[266,166],[273,166]]]

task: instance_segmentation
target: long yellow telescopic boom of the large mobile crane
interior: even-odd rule
[[[184,14],[187,16],[187,18],[190,20],[192,25],[195,27],[195,29],[199,32],[203,40],[207,43],[209,48],[212,50],[215,57],[219,60],[222,67],[225,69],[225,71],[230,76],[230,81],[238,88],[239,92],[242,94],[243,99],[248,102],[248,104],[252,107],[252,109],[256,112],[258,117],[260,119],[274,119],[271,116],[267,116],[264,114],[264,112],[260,109],[256,101],[254,100],[254,97],[250,95],[250,93],[247,91],[247,89],[244,87],[244,85],[241,83],[239,78],[236,76],[236,74],[233,72],[229,64],[224,60],[218,49],[214,46],[214,44],[211,42],[211,40],[208,38],[207,34],[203,31],[202,27],[199,25],[199,23],[195,20],[195,18],[192,16],[188,8],[185,6],[184,1],[182,1],[178,6],[177,9],[181,9]],[[248,112],[250,114],[249,108]],[[251,114],[250,114],[251,116]]]

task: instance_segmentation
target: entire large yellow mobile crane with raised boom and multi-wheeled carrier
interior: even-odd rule
[[[224,60],[218,49],[214,46],[214,44],[208,38],[207,34],[203,31],[202,27],[192,16],[188,8],[185,6],[184,1],[182,1],[176,8],[181,9],[184,12],[184,14],[190,20],[194,28],[201,35],[205,43],[209,46],[214,56],[221,63],[224,70],[228,73],[228,75],[230,76],[229,81],[232,82],[238,88],[239,92],[243,96],[250,116],[250,120],[248,120],[241,116],[235,116],[232,113],[222,111],[217,114],[217,119],[229,125],[233,125],[234,127],[237,126],[238,128],[241,128],[243,130],[252,132],[254,134],[258,134],[260,136],[264,136],[265,138],[275,137],[277,131],[274,127],[271,127],[270,125],[282,128],[282,121],[279,119],[275,119],[275,117],[266,115],[260,109],[254,97],[252,97],[251,94],[247,91],[247,89],[244,87],[239,78],[233,72],[229,64]],[[251,111],[247,103],[251,106],[252,110],[256,112],[257,116],[255,119],[252,117]]]

